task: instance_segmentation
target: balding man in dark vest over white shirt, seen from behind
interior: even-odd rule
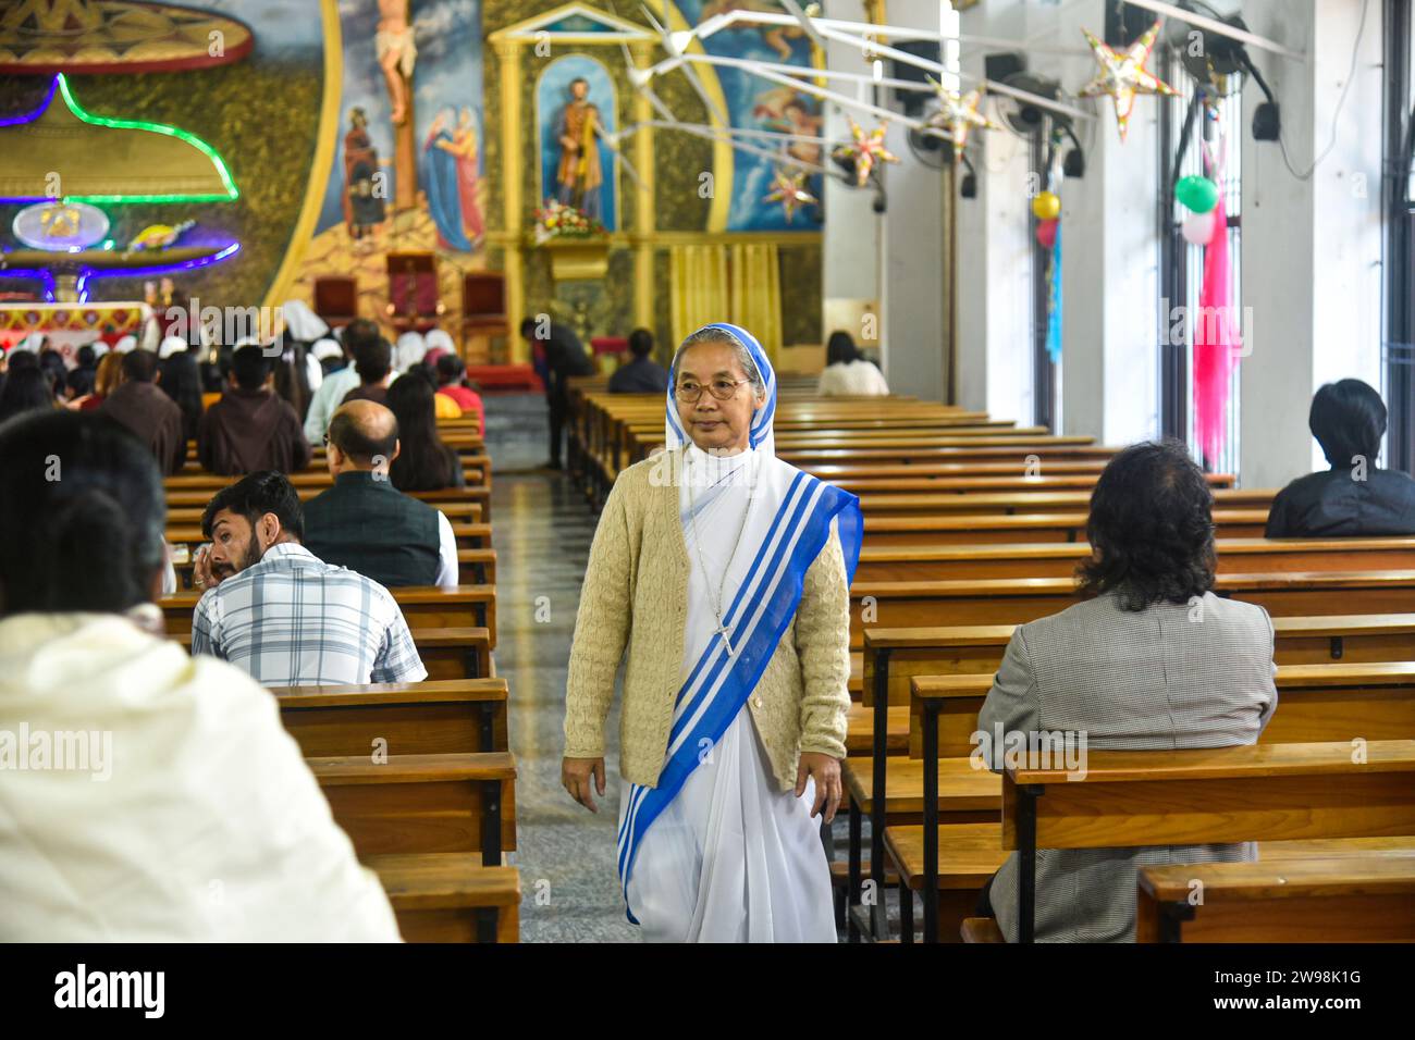
[[[398,458],[398,420],[372,400],[351,400],[330,419],[325,460],[334,487],[304,504],[304,545],[379,584],[457,586],[457,541],[447,516],[388,480]]]

